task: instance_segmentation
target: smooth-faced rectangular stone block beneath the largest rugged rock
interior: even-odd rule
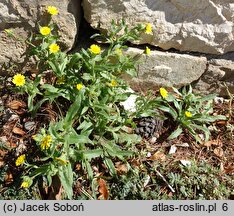
[[[187,54],[177,54],[161,51],[151,51],[129,48],[127,54],[141,55],[138,76],[124,76],[134,90],[158,90],[159,87],[181,87],[198,80],[206,70],[206,57],[196,57]]]

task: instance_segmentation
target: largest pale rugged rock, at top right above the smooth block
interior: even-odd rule
[[[86,20],[107,32],[111,20],[151,23],[153,34],[136,43],[165,50],[223,54],[234,51],[233,0],[83,0]]]

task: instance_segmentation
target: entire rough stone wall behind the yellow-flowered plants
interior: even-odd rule
[[[102,32],[108,31],[112,19],[124,18],[130,26],[151,23],[153,34],[143,34],[136,42],[143,45],[133,44],[135,48],[127,51],[143,53],[146,45],[152,50],[142,55],[138,78],[126,78],[135,89],[193,83],[198,91],[226,95],[227,83],[234,93],[233,0],[1,0],[0,66],[23,61],[26,52],[25,44],[8,37],[4,29],[26,39],[45,21],[48,5],[59,9],[53,18],[66,51],[89,43],[86,26],[81,38],[87,44],[76,44],[82,8],[88,24]]]

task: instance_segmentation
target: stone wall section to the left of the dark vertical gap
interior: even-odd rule
[[[0,65],[23,61],[26,51],[24,41],[31,32],[38,31],[38,22],[43,24],[46,7],[54,5],[59,14],[54,17],[64,49],[75,43],[80,21],[80,0],[1,0],[0,2]],[[6,35],[10,29],[20,38],[14,40]]]

